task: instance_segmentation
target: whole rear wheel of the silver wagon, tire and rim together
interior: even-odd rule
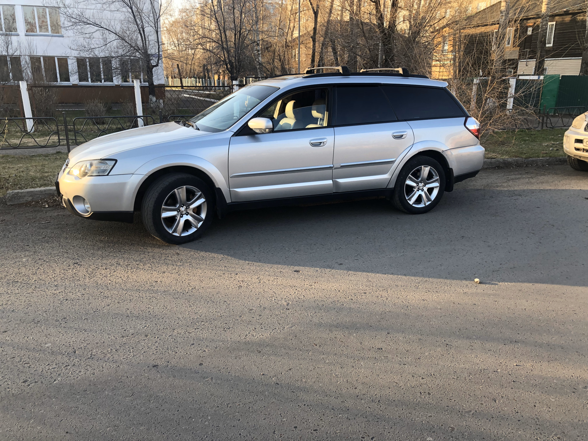
[[[409,178],[409,175],[412,175],[413,181],[418,181],[420,184],[420,173],[424,170],[422,167],[429,167],[429,173],[426,176],[426,181],[430,182],[431,184],[435,183],[435,179],[439,183],[438,187],[430,187],[430,188],[422,188],[420,189],[418,185],[411,186],[407,185],[406,181]],[[420,171],[419,171],[419,168]],[[423,182],[423,185],[426,183]],[[430,185],[430,184],[429,184]],[[411,204],[407,198],[407,196],[415,195],[413,191],[420,191],[420,195],[416,195],[416,199],[413,200]],[[426,195],[424,192],[427,192],[429,195],[428,199],[432,199],[430,202],[426,200]],[[396,178],[396,184],[394,186],[394,193],[392,196],[392,204],[405,213],[409,213],[411,215],[420,215],[423,213],[427,213],[431,211],[433,208],[437,206],[437,203],[441,200],[443,193],[445,192],[445,171],[443,167],[440,165],[439,162],[435,161],[433,158],[429,158],[429,156],[414,156],[410,158],[409,161],[403,166]],[[422,205],[422,206],[419,206]]]

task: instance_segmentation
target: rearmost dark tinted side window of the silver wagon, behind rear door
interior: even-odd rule
[[[382,86],[400,120],[455,118],[462,108],[443,88]]]

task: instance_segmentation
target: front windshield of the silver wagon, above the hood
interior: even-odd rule
[[[250,84],[225,96],[190,122],[198,130],[222,132],[277,90],[277,87]]]

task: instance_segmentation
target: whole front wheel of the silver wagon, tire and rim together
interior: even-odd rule
[[[176,189],[178,193],[175,192]],[[202,196],[205,202],[201,202]],[[185,203],[182,203],[182,198]],[[173,208],[167,211],[169,216],[165,218],[163,218],[164,202]],[[200,203],[195,208],[189,208],[189,202]],[[141,216],[149,233],[163,242],[179,245],[198,239],[208,229],[213,218],[214,202],[211,188],[202,179],[188,173],[171,173],[162,176],[149,186],[141,203]],[[178,209],[177,215],[173,213],[176,209]],[[178,228],[174,229],[174,225]],[[169,230],[170,228],[172,231]],[[180,228],[181,234],[178,234]]]

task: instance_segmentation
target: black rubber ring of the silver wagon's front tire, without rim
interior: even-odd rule
[[[153,202],[153,205],[150,208],[151,213],[149,213],[149,217],[151,218],[152,222],[152,228],[155,229],[156,232],[155,236],[163,240],[164,242],[176,245],[179,245],[181,243],[192,242],[192,240],[198,239],[200,236],[202,236],[206,229],[208,229],[209,225],[211,225],[214,213],[214,199],[212,190],[204,181],[202,181],[202,179],[196,178],[196,176],[191,176],[182,173],[178,175],[176,178],[169,179],[170,176],[168,176],[167,178],[169,181],[166,182],[165,185],[162,185],[162,182],[165,181],[165,179],[161,179],[158,182],[153,183],[153,188],[158,187],[159,184],[159,188],[156,190],[156,195],[151,196],[155,197],[155,201]],[[163,226],[163,221],[161,220],[161,208],[163,206],[163,202],[165,202],[165,199],[169,196],[169,193],[174,191],[176,188],[185,185],[197,188],[204,195],[206,199],[206,217],[204,218],[204,222],[202,223],[202,225],[195,232],[186,236],[175,236],[172,233],[168,232],[168,230],[165,229],[165,226]],[[147,193],[151,192],[148,191]]]

